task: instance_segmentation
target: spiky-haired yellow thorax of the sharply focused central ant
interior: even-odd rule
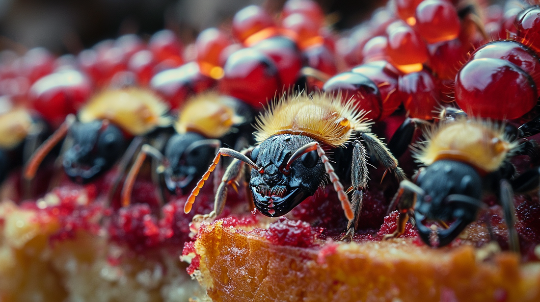
[[[368,132],[370,122],[348,101],[330,94],[301,93],[282,98],[259,115],[254,133],[258,143],[276,134],[305,135],[332,147],[344,146],[353,132]]]

